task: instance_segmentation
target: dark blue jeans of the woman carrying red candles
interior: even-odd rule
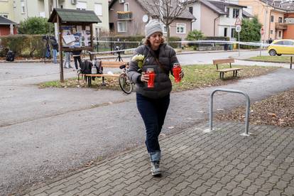
[[[170,104],[170,95],[160,99],[150,99],[136,94],[137,107],[146,127],[146,147],[151,161],[160,160],[158,136],[163,127],[166,111]]]

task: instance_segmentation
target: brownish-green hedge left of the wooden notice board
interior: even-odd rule
[[[5,56],[8,49],[23,58],[43,58],[45,54],[42,35],[0,36],[0,46],[0,56]]]

